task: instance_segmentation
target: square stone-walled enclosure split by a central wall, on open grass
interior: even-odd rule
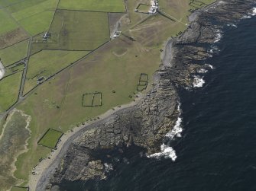
[[[83,94],[83,107],[100,107],[102,106],[102,93],[95,92]]]

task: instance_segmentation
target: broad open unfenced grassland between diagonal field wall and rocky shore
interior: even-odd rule
[[[152,74],[160,64],[160,47],[144,49],[141,44],[120,37],[73,68],[64,70],[50,83],[36,88],[36,94],[31,94],[18,106],[32,115],[32,134],[31,149],[18,158],[15,175],[28,179],[31,167],[37,164],[42,154],[47,153],[46,148],[36,146],[47,129],[66,132],[113,107],[132,102],[141,73],[147,73],[151,83]],[[83,107],[83,94],[95,91],[102,92],[102,107]],[[28,159],[29,163],[25,162]]]

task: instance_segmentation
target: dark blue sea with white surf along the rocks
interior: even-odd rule
[[[61,190],[256,190],[256,18],[237,26],[215,44],[203,88],[180,90],[183,132],[170,142],[176,161],[129,148],[107,180]]]

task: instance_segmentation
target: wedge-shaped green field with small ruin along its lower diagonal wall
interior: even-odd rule
[[[48,78],[50,75],[54,75],[88,53],[87,51],[42,50],[34,54],[28,62],[23,93],[27,94],[37,86],[39,78]]]

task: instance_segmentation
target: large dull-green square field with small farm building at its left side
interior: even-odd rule
[[[32,54],[41,49],[92,50],[110,38],[108,14],[101,12],[57,10],[49,31],[50,38],[57,36],[55,43],[34,40]]]

